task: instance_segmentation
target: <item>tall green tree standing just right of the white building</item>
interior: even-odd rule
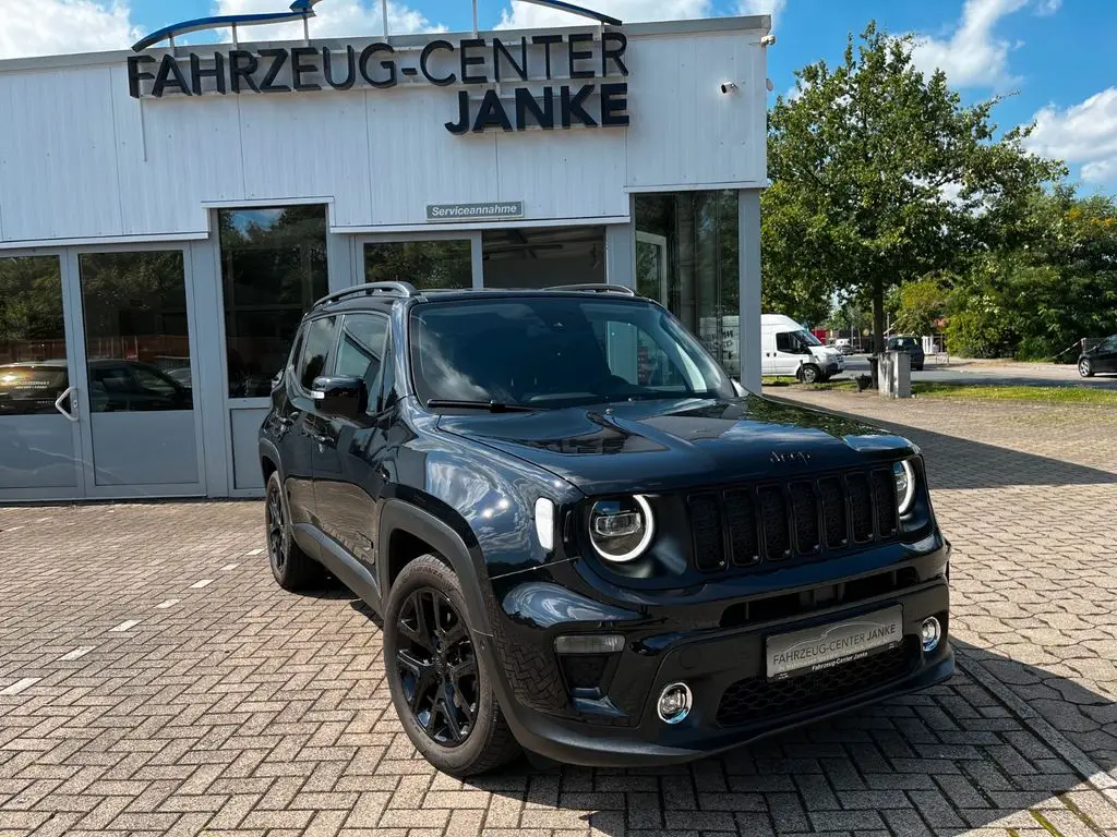
[[[1063,171],[1023,150],[1027,127],[994,138],[996,99],[964,106],[875,23],[839,66],[796,76],[768,119],[765,276],[793,296],[870,300],[878,339],[890,288],[964,264]]]

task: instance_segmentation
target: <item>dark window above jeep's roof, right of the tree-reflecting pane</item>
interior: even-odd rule
[[[605,281],[604,227],[486,230],[486,288],[550,288]]]

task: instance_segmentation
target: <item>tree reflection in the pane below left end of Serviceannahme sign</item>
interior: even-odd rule
[[[468,240],[391,241],[364,246],[366,282],[411,282],[417,288],[471,288]]]

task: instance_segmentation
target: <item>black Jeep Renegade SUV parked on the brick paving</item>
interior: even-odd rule
[[[744,391],[624,288],[333,294],[271,402],[276,580],[382,615],[443,771],[682,761],[953,670],[919,451]]]

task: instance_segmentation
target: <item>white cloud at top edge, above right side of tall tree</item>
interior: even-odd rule
[[[917,36],[915,65],[925,73],[941,68],[956,87],[1004,87],[1014,79],[1009,73],[1013,45],[997,38],[1001,18],[1023,8],[1029,0],[966,0],[962,19],[946,39]],[[1044,0],[1049,2],[1049,0]]]

